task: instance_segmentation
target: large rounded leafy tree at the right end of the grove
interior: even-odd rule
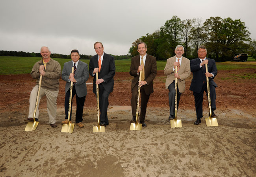
[[[237,48],[239,53],[248,50],[244,42],[250,41],[250,32],[240,19],[210,17],[204,22],[203,30],[201,39],[217,61],[230,60]]]

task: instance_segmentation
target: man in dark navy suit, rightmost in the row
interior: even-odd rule
[[[207,94],[206,77],[209,77],[211,112],[212,112],[211,117],[217,117],[213,111],[216,109],[215,87],[218,87],[213,80],[218,73],[215,60],[206,57],[207,49],[205,46],[199,46],[197,54],[198,54],[198,58],[190,61],[190,70],[191,72],[193,72],[193,79],[191,80],[191,85],[189,88],[189,90],[193,91],[193,95],[195,97],[195,107],[197,112],[197,120],[194,122],[195,125],[198,125],[201,123],[201,118],[203,116],[202,104],[203,104],[204,91]],[[206,72],[206,69],[205,69],[206,63],[208,64],[208,72]]]

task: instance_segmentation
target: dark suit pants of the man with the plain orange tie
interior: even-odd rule
[[[108,96],[109,92],[107,92],[102,84],[99,84],[99,106],[100,106],[100,122],[105,122],[106,125],[109,124],[108,122]],[[96,95],[96,94],[95,94]],[[97,95],[96,95],[97,97]]]

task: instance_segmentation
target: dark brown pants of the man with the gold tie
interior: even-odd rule
[[[144,122],[146,117],[146,111],[147,111],[147,104],[149,95],[145,93],[144,87],[141,87],[141,113],[139,116],[139,121]],[[131,98],[131,105],[132,105],[132,116],[136,116],[136,108],[137,108],[137,99],[138,99],[138,85],[135,85],[132,89],[132,98]]]

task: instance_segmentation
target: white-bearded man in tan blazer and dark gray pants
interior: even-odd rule
[[[174,119],[175,116],[175,78],[178,81],[177,92],[177,109],[179,106],[180,95],[185,91],[185,79],[190,75],[190,61],[189,59],[182,57],[184,53],[184,47],[178,45],[175,48],[175,56],[167,59],[164,74],[167,76],[165,81],[165,89],[169,89],[169,106],[170,116],[168,120]],[[177,66],[177,74],[175,74],[175,66]]]

